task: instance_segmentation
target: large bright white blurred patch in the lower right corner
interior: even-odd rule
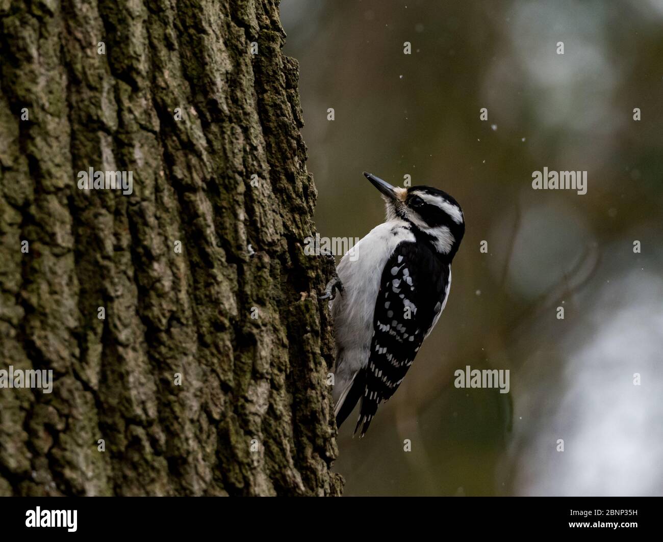
[[[638,268],[603,284],[564,324],[556,354],[542,347],[514,376],[528,390],[515,411],[531,420],[514,424],[515,494],[663,493],[663,280]],[[562,360],[551,384],[546,364]]]

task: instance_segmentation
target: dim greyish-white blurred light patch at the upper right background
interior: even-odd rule
[[[608,55],[611,7],[538,0],[514,2],[509,15],[509,24],[496,25],[505,34],[505,46],[487,72],[483,99],[502,112],[505,134],[519,127],[524,111],[531,115],[540,125],[539,135],[532,136],[534,148],[543,148],[550,141],[550,131],[558,129],[575,133],[581,140],[591,138],[596,149],[591,156],[573,137],[566,138],[556,153],[569,164],[591,159],[600,166],[611,153],[623,122],[615,109],[614,93],[623,70],[632,62],[621,58],[615,64]],[[564,54],[557,54],[558,42],[564,42]],[[513,107],[514,95],[522,99],[519,108]],[[567,167],[572,168],[564,164]]]

